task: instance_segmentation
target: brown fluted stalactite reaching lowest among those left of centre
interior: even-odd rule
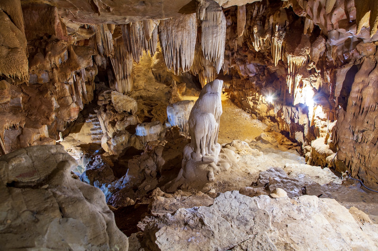
[[[116,78],[110,88],[120,93],[129,93],[133,90],[133,59],[132,55],[126,51],[123,41],[115,44],[114,57],[110,58],[113,72]]]

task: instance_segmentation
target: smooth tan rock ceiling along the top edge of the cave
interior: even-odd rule
[[[218,0],[223,8],[245,5],[256,0]],[[77,23],[126,24],[145,19],[166,19],[195,13],[196,0],[23,0],[26,3],[44,3],[56,6],[61,17]]]

